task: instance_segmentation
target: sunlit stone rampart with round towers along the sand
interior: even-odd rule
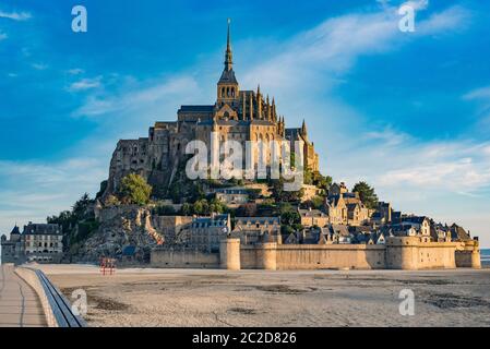
[[[389,238],[386,244],[277,244],[240,245],[239,239],[220,242],[216,265],[239,269],[446,269],[479,267],[478,243],[430,242],[427,238]],[[456,250],[458,249],[458,251]],[[163,252],[158,252],[162,253]],[[152,262],[154,261],[152,253]],[[203,255],[205,255],[203,253]],[[158,258],[169,258],[162,255]],[[186,258],[190,258],[186,262]],[[195,265],[192,255],[181,255],[179,263],[165,266]],[[172,256],[171,261],[177,261]],[[214,261],[214,260],[213,260]],[[477,263],[478,261],[478,263]],[[157,266],[162,266],[159,263]],[[210,264],[211,265],[211,264]]]

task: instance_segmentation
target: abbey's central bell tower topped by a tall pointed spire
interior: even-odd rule
[[[225,52],[225,69],[217,84],[217,105],[222,107],[225,104],[232,105],[239,99],[239,86],[234,72],[234,53],[230,41],[230,23],[228,19],[228,36]]]

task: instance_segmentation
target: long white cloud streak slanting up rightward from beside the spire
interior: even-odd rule
[[[423,10],[427,1],[415,1]],[[418,21],[415,34],[398,29],[397,8],[383,5],[378,12],[358,12],[331,17],[310,31],[298,34],[284,44],[274,44],[276,55],[262,61],[244,76],[246,84],[287,91],[285,99],[298,88],[324,91],[338,83],[338,75],[347,72],[362,56],[383,53],[410,43],[411,39],[457,29],[468,22],[469,12],[462,7],[449,8]],[[318,79],[319,73],[322,80]]]

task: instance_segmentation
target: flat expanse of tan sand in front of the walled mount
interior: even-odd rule
[[[89,326],[490,326],[490,269],[203,270],[39,266]],[[415,315],[399,313],[403,289]]]

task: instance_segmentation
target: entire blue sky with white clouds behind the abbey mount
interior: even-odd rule
[[[411,1],[402,33],[402,3],[2,1],[0,232],[95,194],[119,139],[214,103],[231,17],[241,86],[307,120],[324,173],[490,246],[490,4]]]

